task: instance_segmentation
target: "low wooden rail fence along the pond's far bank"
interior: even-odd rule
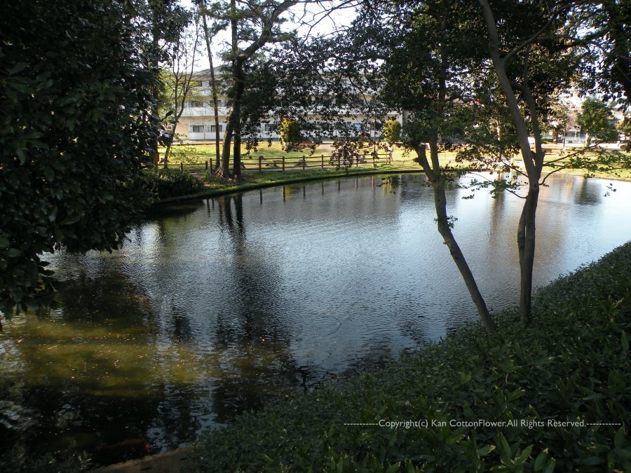
[[[281,156],[280,158],[265,158],[264,156],[241,158],[241,169],[246,172],[285,172],[307,169],[348,169],[349,167],[372,166],[391,163],[392,153],[355,153],[350,156]],[[195,174],[203,173],[212,168],[210,161],[202,163],[179,164],[168,162],[165,167],[179,167],[179,170]]]

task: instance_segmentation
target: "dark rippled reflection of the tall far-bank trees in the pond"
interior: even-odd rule
[[[219,226],[228,238],[236,264],[224,274],[227,306],[216,316],[212,341],[221,353],[223,375],[215,382],[212,399],[217,422],[256,408],[262,392],[294,388],[299,366],[290,350],[291,336],[279,317],[278,271],[264,257],[262,245],[247,245],[243,196],[217,199]]]

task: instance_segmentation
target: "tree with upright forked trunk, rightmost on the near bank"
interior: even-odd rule
[[[541,179],[543,117],[552,107],[550,98],[554,92],[567,88],[578,66],[565,28],[572,5],[503,1],[491,7],[487,0],[478,0],[478,3],[487,25],[491,62],[515,125],[526,167],[528,192],[517,227],[517,247],[520,255],[520,318],[527,322],[531,317],[536,208],[539,188],[545,184],[545,177]],[[524,30],[521,25],[540,26],[531,31]],[[534,150],[529,143],[530,135],[534,137]],[[578,163],[570,162],[571,165]]]

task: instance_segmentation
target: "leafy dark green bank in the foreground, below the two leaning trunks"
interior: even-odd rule
[[[194,466],[631,471],[631,242],[541,289],[528,327],[497,318],[494,336],[470,324],[376,373],[240,416],[198,446]]]

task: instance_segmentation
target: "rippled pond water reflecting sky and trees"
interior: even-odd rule
[[[50,256],[62,309],[0,334],[0,448],[154,451],[286,390],[379,365],[475,318],[422,177],[250,191],[161,210],[112,254]],[[557,177],[538,207],[535,284],[631,238],[631,184]],[[517,302],[522,200],[449,193],[489,306]],[[110,448],[111,447],[111,448]],[[100,456],[99,456],[100,455]]]

